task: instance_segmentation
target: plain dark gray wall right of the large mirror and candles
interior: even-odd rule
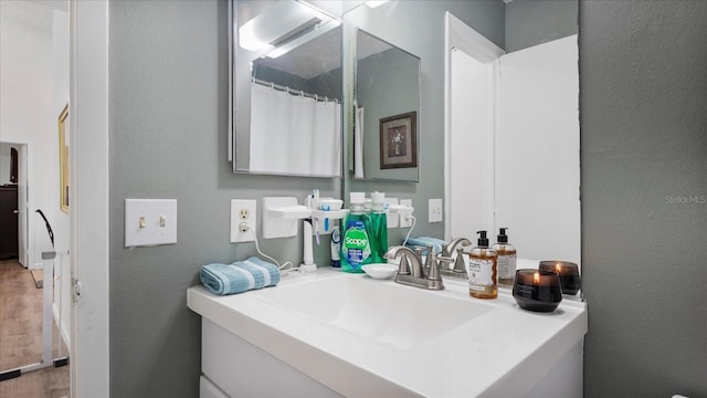
[[[707,2],[579,11],[585,397],[707,397]]]

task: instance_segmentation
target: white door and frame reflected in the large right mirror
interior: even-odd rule
[[[566,19],[577,17],[572,1],[514,3],[542,6],[548,18],[569,4]],[[555,38],[537,38],[532,23],[516,25],[525,46],[511,52],[454,15],[446,24],[446,238],[477,230],[493,237],[507,227],[519,258],[579,264],[576,24]]]

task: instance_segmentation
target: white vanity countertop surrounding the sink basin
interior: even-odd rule
[[[320,322],[307,311],[276,303],[278,294],[285,291],[282,287],[313,281],[324,281],[326,285],[326,280],[339,277],[390,284],[394,289],[391,301],[395,300],[395,292],[403,293],[402,289],[413,290],[423,300],[432,298],[424,295],[442,295],[472,301],[479,304],[475,307],[484,310],[468,321],[460,314],[461,318],[450,325],[449,331],[445,328],[425,336],[422,343],[405,345],[394,339],[387,344],[362,338],[333,323]],[[349,397],[520,396],[581,341],[588,329],[585,304],[578,298],[566,296],[553,313],[534,313],[520,310],[509,289],[499,289],[496,300],[477,300],[468,296],[462,281],[445,280],[445,285],[444,291],[425,291],[392,280],[372,280],[325,268],[313,274],[283,276],[274,287],[230,296],[217,296],[202,286],[194,286],[189,289],[187,302],[189,308],[201,316]],[[321,305],[342,300],[336,292],[312,294]],[[414,310],[409,316],[411,325],[422,327],[425,322],[434,322],[436,312],[445,310],[451,311],[444,307]]]

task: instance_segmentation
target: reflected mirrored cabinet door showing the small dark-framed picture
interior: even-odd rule
[[[418,181],[420,59],[356,32],[354,178]]]

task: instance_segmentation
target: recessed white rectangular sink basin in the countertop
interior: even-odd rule
[[[399,349],[431,342],[493,308],[362,275],[338,276],[265,290],[258,298]]]

